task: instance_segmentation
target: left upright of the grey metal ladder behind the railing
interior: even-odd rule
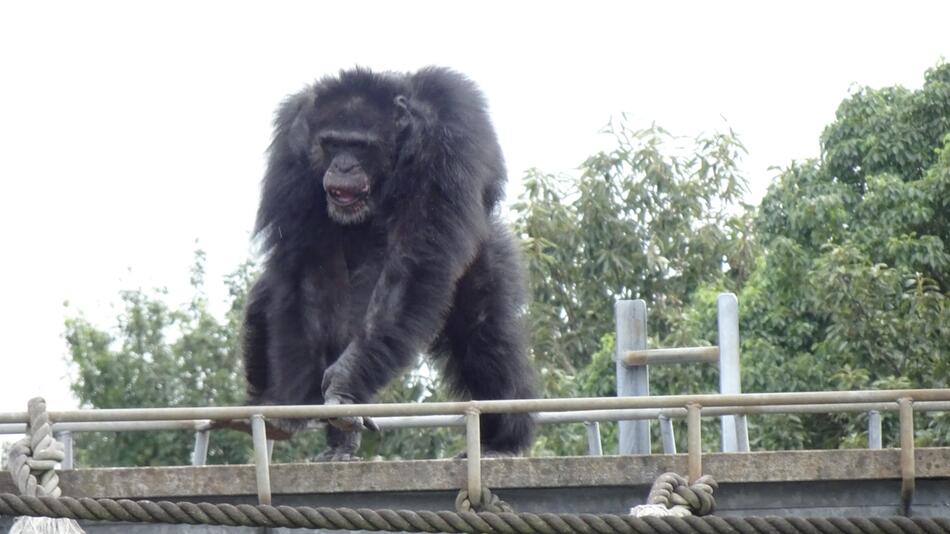
[[[647,348],[647,303],[618,300],[614,305],[617,342],[617,396],[650,394],[650,374],[646,365],[627,366],[623,354]],[[620,454],[650,454],[650,421],[620,421]]]

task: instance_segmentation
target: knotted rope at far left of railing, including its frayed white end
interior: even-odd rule
[[[61,442],[53,438],[53,427],[46,414],[46,401],[40,397],[27,403],[30,421],[26,436],[13,444],[8,456],[10,474],[17,489],[26,497],[59,497],[59,475],[56,466],[66,457]],[[21,514],[25,516],[33,514]],[[82,534],[83,530],[69,519],[20,518],[10,534]]]

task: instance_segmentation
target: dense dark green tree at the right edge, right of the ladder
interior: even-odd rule
[[[740,296],[747,389],[947,387],[948,133],[943,64],[918,91],[855,92],[825,129],[821,158],[790,165],[769,188],[756,220],[765,254]],[[919,420],[919,444],[950,441],[945,415]],[[753,441],[854,446],[866,443],[865,425],[786,416]]]

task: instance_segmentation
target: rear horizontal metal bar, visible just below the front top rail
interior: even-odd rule
[[[918,412],[950,411],[950,401],[916,402]],[[717,406],[703,407],[703,417],[720,415],[768,415],[793,413],[857,413],[857,412],[896,412],[898,404],[894,402],[843,403],[843,404],[778,404],[774,406]],[[660,416],[671,419],[686,417],[686,408],[635,408],[618,410],[576,410],[569,412],[541,412],[535,414],[540,424],[584,423],[593,421],[626,421],[657,419]],[[463,427],[462,415],[414,415],[396,417],[376,417],[373,419],[380,428],[426,428],[426,427]],[[91,423],[53,423],[54,432],[129,432],[141,430],[204,430],[207,419],[181,421],[123,421]],[[0,424],[0,434],[22,434],[25,423]]]

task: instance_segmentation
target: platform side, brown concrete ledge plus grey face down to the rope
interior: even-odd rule
[[[950,517],[950,448],[918,449],[912,515]],[[723,516],[893,516],[900,511],[897,450],[708,454]],[[686,472],[685,455],[487,459],[484,479],[525,512],[623,513],[660,473]],[[274,504],[452,509],[464,484],[458,460],[285,464],[271,468]],[[252,466],[78,469],[61,474],[71,496],[254,503]],[[0,492],[15,492],[0,476]],[[10,525],[0,518],[0,532]],[[256,529],[86,523],[88,534],[255,534]],[[5,528],[7,527],[7,528]],[[284,529],[272,530],[290,534]]]

